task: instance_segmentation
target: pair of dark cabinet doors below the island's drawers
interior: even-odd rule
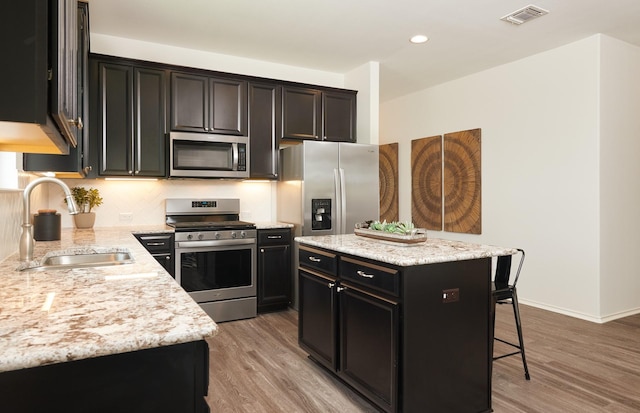
[[[384,411],[398,393],[398,304],[300,271],[300,345]]]

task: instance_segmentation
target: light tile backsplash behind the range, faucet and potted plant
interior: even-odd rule
[[[19,176],[24,188],[36,177]],[[84,186],[100,190],[104,202],[95,208],[96,227],[135,227],[164,223],[166,198],[239,198],[240,218],[253,222],[275,221],[275,183],[225,180],[106,181],[102,179],[65,179],[69,187]],[[21,190],[0,190],[0,261],[18,251],[22,225]],[[31,212],[56,209],[62,227],[72,228],[63,191],[58,185],[44,183],[31,193]]]

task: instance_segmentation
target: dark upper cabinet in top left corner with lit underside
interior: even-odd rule
[[[78,1],[5,1],[0,13],[0,150],[68,154],[82,127]]]

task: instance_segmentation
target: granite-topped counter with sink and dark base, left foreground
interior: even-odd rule
[[[143,228],[144,231],[164,231]],[[207,411],[206,338],[217,325],[131,230],[64,229],[61,251],[127,250],[134,262],[27,269],[0,263],[0,406],[11,412]]]

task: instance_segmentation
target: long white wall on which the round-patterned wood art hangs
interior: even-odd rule
[[[610,315],[600,302],[600,209],[614,209],[600,203],[600,39],[382,103],[380,115],[380,143],[399,142],[401,219],[411,218],[411,140],[482,128],[483,234],[430,236],[525,249],[521,301],[593,321]],[[625,132],[634,128],[620,118]],[[638,143],[629,145],[627,157],[637,164]],[[619,176],[613,159],[611,167],[607,185],[612,176],[623,188],[634,184]],[[613,213],[603,219],[628,222]],[[606,241],[619,247],[614,237]],[[636,294],[624,310],[640,311],[638,300]]]

